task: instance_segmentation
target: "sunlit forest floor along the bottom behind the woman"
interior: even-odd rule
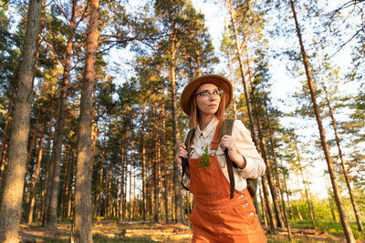
[[[43,228],[37,224],[20,226],[21,242],[68,242],[71,223],[63,221],[56,228]],[[191,229],[183,224],[164,224],[141,221],[118,222],[100,220],[93,224],[94,242],[191,242]],[[287,233],[266,234],[267,242],[289,242]],[[345,242],[344,238],[325,232],[296,232],[292,242]],[[358,241],[365,242],[365,241]]]

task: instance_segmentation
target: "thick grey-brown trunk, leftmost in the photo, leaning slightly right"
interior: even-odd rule
[[[17,72],[16,102],[9,141],[4,194],[0,206],[0,241],[17,242],[25,182],[30,106],[32,104],[38,35],[41,29],[42,0],[30,0],[22,61]]]

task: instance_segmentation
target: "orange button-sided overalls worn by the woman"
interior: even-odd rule
[[[194,195],[192,242],[266,242],[247,188],[235,190],[230,199],[230,183],[224,177],[215,152],[222,123],[215,128],[209,167],[200,167],[202,157],[190,158],[190,191]],[[193,140],[193,139],[192,139]]]

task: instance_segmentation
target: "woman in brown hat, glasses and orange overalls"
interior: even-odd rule
[[[181,143],[176,160],[181,165],[182,158],[189,157],[187,174],[194,195],[192,242],[266,242],[246,188],[245,178],[261,177],[266,169],[250,132],[235,120],[232,136],[224,135],[218,143],[224,109],[232,96],[232,85],[224,76],[199,76],[183,89],[181,105],[195,131],[190,151]],[[237,165],[233,198],[225,166],[226,148]]]

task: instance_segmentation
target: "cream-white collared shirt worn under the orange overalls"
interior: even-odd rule
[[[205,147],[208,147],[209,153],[211,153],[210,145],[214,137],[215,128],[218,125],[219,120],[216,116],[209,122],[208,126],[200,129],[198,125],[193,137],[193,144],[191,146],[191,152],[189,157],[197,158],[203,155]],[[235,189],[240,191],[247,187],[245,178],[258,178],[265,174],[266,165],[262,157],[258,154],[255,144],[252,141],[250,131],[240,120],[235,120],[232,130],[232,137],[235,138],[235,147],[237,153],[245,157],[246,166],[243,169],[234,168],[235,176]],[[225,162],[224,151],[221,146],[218,146],[216,155],[219,161],[219,165],[222,168],[224,177],[228,177],[228,171]]]

